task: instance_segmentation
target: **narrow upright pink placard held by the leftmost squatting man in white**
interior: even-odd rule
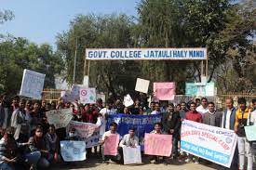
[[[119,135],[108,135],[104,142],[104,155],[117,155],[117,148],[119,143]]]

